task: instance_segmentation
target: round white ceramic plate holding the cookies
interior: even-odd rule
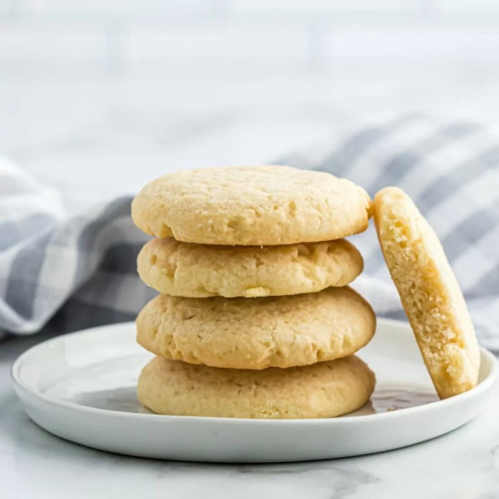
[[[376,373],[371,402],[341,418],[252,420],[158,416],[135,383],[150,354],[133,323],[59,336],[14,364],[16,392],[39,426],[105,451],[187,461],[272,462],[388,451],[447,433],[483,410],[498,372],[482,350],[480,384],[438,401],[408,325],[380,319],[360,352]]]

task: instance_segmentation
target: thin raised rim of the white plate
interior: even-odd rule
[[[401,321],[398,319],[389,319],[385,317],[377,317],[377,326],[381,324],[386,324],[387,326],[403,326],[406,328],[411,328],[411,326],[406,321]],[[355,424],[355,423],[366,423],[366,421],[379,421],[391,418],[400,418],[410,417],[413,414],[431,411],[435,406],[446,407],[453,406],[456,403],[460,403],[460,401],[464,402],[466,398],[472,398],[475,396],[480,396],[481,393],[486,392],[490,389],[490,386],[494,383],[495,379],[498,377],[499,372],[499,361],[495,357],[495,355],[490,352],[488,349],[485,349],[483,346],[480,346],[480,357],[485,356],[485,359],[488,360],[488,364],[490,366],[490,371],[488,375],[481,381],[477,386],[473,387],[468,391],[463,393],[459,393],[456,396],[452,396],[449,398],[444,398],[443,400],[437,400],[429,403],[422,404],[421,406],[413,406],[407,408],[401,408],[398,411],[386,411],[383,413],[374,413],[374,414],[363,414],[359,416],[341,416],[341,418],[296,418],[296,419],[264,419],[264,418],[228,418],[228,417],[218,417],[218,416],[175,416],[170,414],[149,414],[149,413],[132,413],[132,412],[120,412],[120,411],[110,411],[109,409],[96,408],[96,407],[88,407],[81,406],[78,403],[74,403],[71,401],[64,401],[59,398],[52,398],[50,396],[46,396],[44,393],[31,389],[30,386],[24,383],[19,375],[19,370],[23,361],[26,360],[26,357],[32,355],[34,351],[37,349],[41,349],[43,347],[49,346],[52,343],[57,343],[61,341],[61,339],[66,339],[68,337],[74,336],[84,336],[90,332],[95,331],[96,329],[119,329],[121,327],[133,326],[134,321],[125,321],[118,322],[115,324],[103,324],[101,326],[94,326],[87,329],[81,329],[79,331],[73,331],[71,333],[61,334],[59,336],[55,336],[50,339],[46,339],[45,341],[41,341],[40,343],[31,346],[29,349],[24,351],[21,355],[19,355],[14,361],[14,364],[11,367],[11,379],[14,383],[14,389],[24,391],[31,398],[35,398],[38,402],[43,401],[44,403],[48,403],[49,405],[58,406],[59,408],[66,408],[71,411],[78,411],[81,413],[90,413],[97,416],[109,416],[109,417],[117,417],[117,418],[133,418],[135,420],[143,420],[148,419],[151,421],[153,418],[155,421],[164,421],[168,423],[169,421],[190,421],[191,423],[227,423],[231,425],[247,425],[250,424],[252,426],[257,425],[265,425],[265,426],[280,426],[280,425],[346,425],[346,424]],[[421,359],[422,361],[422,359]]]

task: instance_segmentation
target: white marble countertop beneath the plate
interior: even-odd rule
[[[499,383],[487,410],[433,441],[356,458],[262,465],[181,463],[95,451],[43,431],[21,408],[9,371],[47,339],[0,349],[1,497],[465,498],[499,497]]]

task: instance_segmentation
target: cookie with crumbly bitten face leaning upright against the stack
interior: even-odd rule
[[[438,396],[472,389],[480,369],[478,342],[438,237],[412,200],[396,187],[376,194],[374,222]]]

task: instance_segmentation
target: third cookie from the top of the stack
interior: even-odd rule
[[[138,315],[137,341],[190,364],[287,368],[349,356],[375,329],[373,310],[349,287],[253,299],[159,295]]]

